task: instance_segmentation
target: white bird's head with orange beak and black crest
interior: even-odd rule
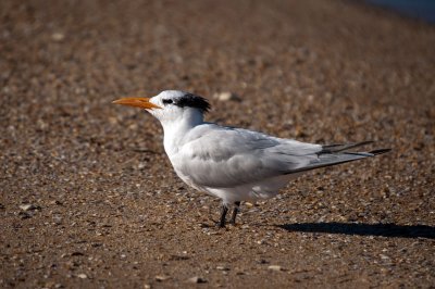
[[[152,98],[122,98],[113,103],[145,109],[163,125],[182,120],[202,121],[210,110],[207,99],[179,90],[165,90]]]

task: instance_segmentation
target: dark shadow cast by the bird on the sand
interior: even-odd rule
[[[396,238],[435,239],[435,227],[425,225],[353,224],[353,223],[297,223],[277,225],[287,231],[344,234]]]

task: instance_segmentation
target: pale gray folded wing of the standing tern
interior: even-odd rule
[[[321,146],[206,124],[183,146],[177,167],[196,184],[223,188],[351,162],[386,152],[347,152],[369,142]]]

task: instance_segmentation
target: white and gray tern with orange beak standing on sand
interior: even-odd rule
[[[163,127],[163,146],[177,176],[188,186],[222,200],[217,227],[236,224],[240,202],[273,198],[291,179],[311,169],[366,159],[390,149],[352,151],[373,141],[318,144],[222,126],[204,121],[210,102],[198,95],[164,90],[127,97],[115,104],[140,108]]]

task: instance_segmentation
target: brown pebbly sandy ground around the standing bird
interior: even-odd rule
[[[0,1],[0,287],[434,287],[434,47],[353,1]],[[209,121],[393,151],[215,229],[159,123],[111,104],[171,88]]]

